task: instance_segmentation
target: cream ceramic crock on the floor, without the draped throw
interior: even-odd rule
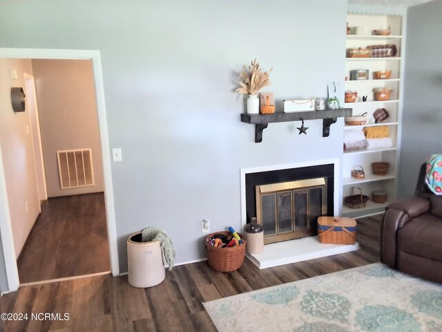
[[[160,284],[166,277],[160,241],[142,242],[142,233],[127,239],[128,282],[146,288]]]

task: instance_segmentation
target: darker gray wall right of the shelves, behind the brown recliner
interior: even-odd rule
[[[442,1],[407,11],[399,195],[414,194],[419,167],[442,154]]]

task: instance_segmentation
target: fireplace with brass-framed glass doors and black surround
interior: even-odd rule
[[[318,216],[334,215],[334,165],[246,174],[247,222],[255,216],[265,243],[317,234]]]

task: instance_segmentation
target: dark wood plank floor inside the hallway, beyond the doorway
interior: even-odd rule
[[[104,194],[44,201],[17,266],[21,284],[109,271]]]

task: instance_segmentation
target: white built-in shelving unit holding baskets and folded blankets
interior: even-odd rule
[[[353,115],[359,116],[367,113],[368,122],[362,126],[345,125],[345,130],[359,129],[363,127],[387,126],[390,129],[392,138],[392,147],[380,149],[362,149],[357,151],[344,152],[343,156],[343,197],[349,196],[352,187],[360,187],[363,194],[370,197],[365,208],[352,209],[343,202],[343,216],[365,216],[383,212],[385,206],[396,198],[396,177],[398,171],[398,140],[400,139],[400,121],[401,121],[401,68],[403,66],[401,55],[403,36],[402,36],[402,17],[400,15],[347,15],[349,27],[359,27],[355,29],[358,35],[347,35],[346,48],[366,48],[369,45],[394,44],[397,54],[394,57],[365,57],[365,58],[346,58],[345,61],[345,91],[357,91],[358,100],[356,102],[345,103],[345,107],[353,108]],[[387,29],[390,27],[391,35],[378,36],[373,35],[373,30]],[[368,69],[368,80],[350,80],[350,71],[356,69]],[[375,80],[374,71],[391,70],[392,75],[387,80]],[[390,100],[374,101],[373,89],[390,88]],[[363,102],[362,97],[367,96],[367,101]],[[385,108],[390,117],[381,123],[375,123],[374,111],[379,108]],[[376,161],[385,161],[390,163],[387,175],[374,175],[372,163]],[[351,176],[352,169],[356,166],[362,166],[365,171],[365,178],[356,179]],[[383,190],[387,192],[387,201],[385,203],[374,203],[372,201],[373,190]],[[354,194],[358,193],[354,192]]]

